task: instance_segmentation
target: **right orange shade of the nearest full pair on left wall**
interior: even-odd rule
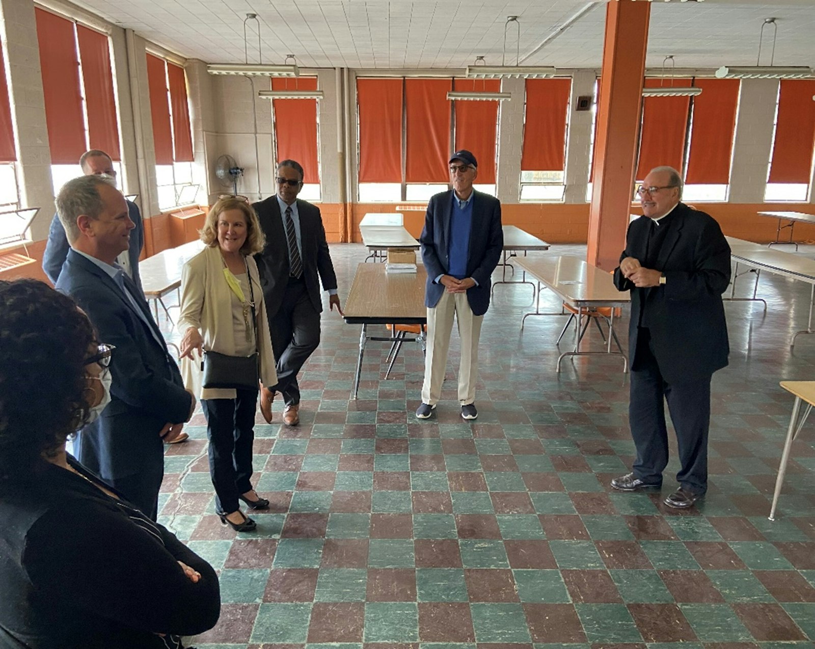
[[[88,143],[90,148],[106,152],[112,160],[121,160],[108,37],[77,24],[77,40],[82,61],[82,80],[85,83]]]

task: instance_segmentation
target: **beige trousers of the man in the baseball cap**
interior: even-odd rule
[[[444,372],[447,368],[447,350],[453,316],[458,322],[461,338],[459,364],[459,401],[461,405],[475,401],[475,382],[478,375],[478,338],[484,316],[474,316],[466,293],[442,294],[435,307],[427,310],[427,353],[425,356],[425,382],[421,386],[423,404],[435,405],[442,398]]]

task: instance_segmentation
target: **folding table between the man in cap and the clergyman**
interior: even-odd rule
[[[521,319],[521,329],[528,316],[565,316],[571,315],[563,311],[557,313],[541,313],[540,311],[540,285],[557,294],[559,298],[576,309],[577,334],[575,335],[574,351],[566,351],[557,359],[557,372],[560,372],[562,360],[566,356],[593,356],[616,355],[623,359],[623,372],[628,372],[628,360],[623,351],[611,351],[611,340],[614,338],[614,307],[622,307],[631,301],[628,291],[619,291],[614,285],[610,273],[596,266],[584,262],[578,257],[536,257],[518,258],[518,266],[522,267],[535,280],[539,282],[538,298],[535,311],[527,313]],[[580,351],[584,317],[590,317],[587,311],[598,307],[611,307],[609,317],[609,335],[606,351]]]

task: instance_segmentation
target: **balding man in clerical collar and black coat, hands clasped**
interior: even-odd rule
[[[707,491],[711,377],[727,365],[721,294],[730,281],[730,247],[709,214],[681,202],[682,179],[657,167],[637,190],[643,216],[628,226],[615,285],[631,291],[628,420],[637,447],[632,473],[611,480],[621,491],[659,488],[667,466],[667,400],[676,430],[679,488],[664,503],[693,506]]]

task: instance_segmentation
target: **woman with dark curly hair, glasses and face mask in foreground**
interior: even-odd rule
[[[0,281],[0,646],[182,647],[218,621],[209,563],[65,452],[115,353],[71,298]]]

